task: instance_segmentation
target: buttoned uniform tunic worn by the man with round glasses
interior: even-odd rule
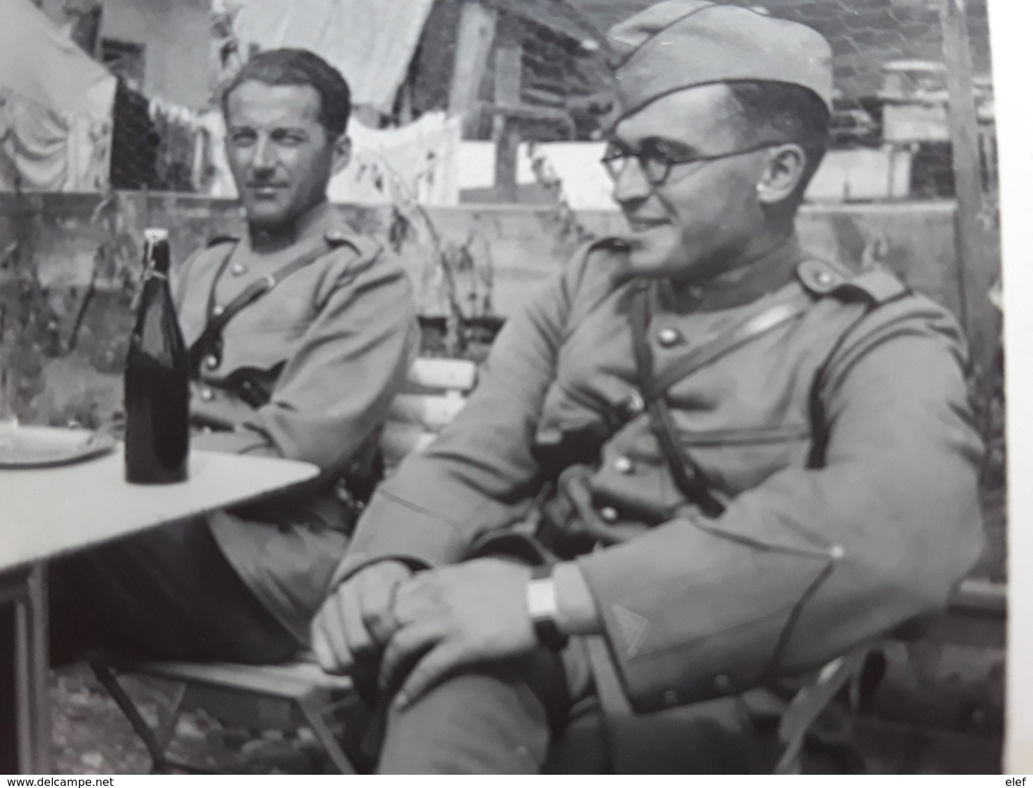
[[[943,605],[981,545],[958,325],[890,275],[855,275],[791,241],[703,285],[738,294],[725,308],[650,288],[654,374],[729,324],[806,301],[666,393],[723,513],[679,490],[640,408],[591,462],[570,454],[546,472],[563,436],[635,402],[628,313],[641,282],[624,255],[583,249],[507,322],[465,410],[371,501],[338,578],[387,556],[460,561],[543,496],[559,502],[612,536],[576,561],[638,711],[819,666]]]

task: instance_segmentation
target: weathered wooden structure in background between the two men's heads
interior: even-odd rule
[[[593,138],[608,106],[602,33],[567,0],[438,0],[396,116],[462,115],[464,138],[496,141],[513,201],[519,144]]]

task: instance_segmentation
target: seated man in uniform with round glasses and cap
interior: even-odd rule
[[[382,771],[586,740],[578,771],[771,768],[786,684],[943,606],[980,549],[957,323],[793,231],[828,44],[700,0],[609,40],[627,232],[508,321],[314,623],[325,668],[379,680]]]

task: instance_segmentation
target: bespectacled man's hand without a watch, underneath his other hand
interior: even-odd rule
[[[312,651],[323,670],[346,673],[390,639],[395,594],[411,574],[405,564],[382,561],[337,587],[312,621]]]

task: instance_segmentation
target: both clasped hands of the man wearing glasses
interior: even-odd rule
[[[380,687],[407,705],[458,668],[513,657],[537,640],[527,610],[531,570],[480,559],[413,575],[395,561],[374,564],[343,582],[312,625],[322,668],[348,672],[380,658]]]

